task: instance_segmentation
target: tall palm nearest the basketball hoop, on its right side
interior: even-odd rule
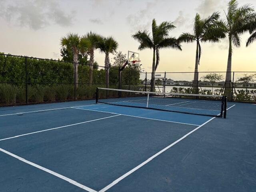
[[[155,86],[155,72],[159,64],[159,50],[161,48],[174,48],[182,50],[176,38],[169,37],[170,30],[175,26],[172,22],[164,21],[160,25],[156,24],[156,20],[152,20],[152,35],[147,30],[140,30],[132,37],[140,43],[138,50],[146,48],[153,49],[153,62],[152,62],[152,88]]]

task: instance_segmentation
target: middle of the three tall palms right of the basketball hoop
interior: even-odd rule
[[[201,45],[200,42],[219,42],[220,38],[225,37],[225,33],[222,30],[222,24],[219,22],[220,14],[219,12],[214,12],[208,18],[202,19],[197,13],[194,19],[194,32],[183,33],[180,35],[178,40],[180,42],[194,42],[196,41],[196,64],[194,72],[193,90],[197,90],[198,84],[198,65],[200,64],[201,58]]]

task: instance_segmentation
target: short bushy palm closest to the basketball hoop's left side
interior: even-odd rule
[[[102,38],[99,43],[100,52],[105,53],[105,73],[106,73],[106,84],[107,88],[109,87],[109,69],[110,69],[110,59],[109,54],[114,54],[118,48],[118,42],[114,40],[113,37],[109,36]]]

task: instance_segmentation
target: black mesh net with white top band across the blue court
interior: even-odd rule
[[[96,103],[226,118],[226,96],[97,88]]]

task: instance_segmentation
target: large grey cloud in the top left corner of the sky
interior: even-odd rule
[[[66,14],[53,0],[14,1],[12,4],[8,4],[6,1],[2,4],[1,9],[0,17],[9,23],[28,26],[34,30],[50,24],[70,26],[75,13],[72,11],[71,14]]]

